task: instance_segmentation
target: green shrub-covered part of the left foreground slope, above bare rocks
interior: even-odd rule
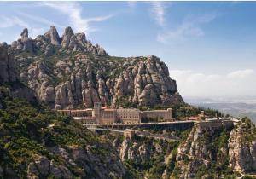
[[[26,178],[27,165],[36,155],[44,155],[63,164],[61,156],[50,153],[47,147],[86,147],[98,156],[106,156],[109,151],[102,145],[104,141],[90,133],[82,125],[69,117],[60,116],[38,103],[12,99],[1,91],[0,101],[0,165],[10,169],[19,178]],[[55,124],[49,128],[49,124]],[[75,176],[79,176],[79,166],[68,166]]]

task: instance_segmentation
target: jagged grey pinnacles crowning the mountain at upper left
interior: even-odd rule
[[[27,28],[21,32],[20,36],[21,38],[14,41],[10,47],[15,54],[26,51],[33,55],[38,55],[39,53],[47,56],[58,52],[107,55],[100,45],[93,45],[90,41],[87,41],[84,32],[74,34],[70,26],[67,26],[61,38],[55,26],[50,26],[48,32],[45,32],[44,35],[38,35],[35,39],[28,38]]]

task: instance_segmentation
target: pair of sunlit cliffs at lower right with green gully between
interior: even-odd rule
[[[242,119],[228,130],[194,127],[177,148],[178,176],[235,177],[236,173],[255,171],[255,149],[256,128],[249,119]]]

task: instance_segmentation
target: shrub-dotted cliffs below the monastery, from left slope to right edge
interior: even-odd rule
[[[187,130],[137,131],[146,135],[133,138],[108,136],[125,167],[132,171],[131,178],[235,179],[255,176],[256,127],[248,118],[226,128],[194,125]],[[246,174],[252,174],[252,177]]]

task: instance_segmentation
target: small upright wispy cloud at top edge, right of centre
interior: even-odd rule
[[[165,26],[166,20],[165,20],[165,6],[163,3],[160,2],[152,2],[152,7],[150,9],[152,16],[154,17],[154,20],[160,25]]]

